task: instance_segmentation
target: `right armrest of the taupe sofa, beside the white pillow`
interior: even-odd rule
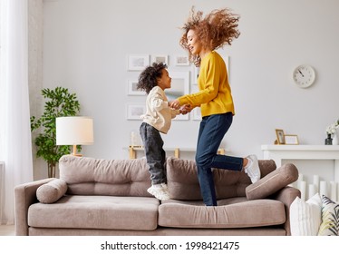
[[[300,198],[301,192],[300,190],[286,186],[285,188],[277,191],[271,198],[274,200],[279,200],[282,203],[284,203],[285,206],[285,212],[286,212],[286,221],[284,224],[284,229],[286,230],[286,235],[291,235],[291,223],[290,223],[290,214],[289,214],[289,208],[292,204],[292,202],[295,200],[296,197]]]

